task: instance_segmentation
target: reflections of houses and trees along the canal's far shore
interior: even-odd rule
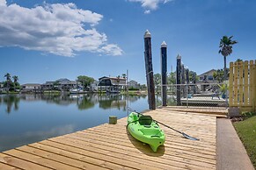
[[[107,110],[115,108],[118,110],[126,110],[127,104],[135,103],[137,100],[147,96],[121,96],[121,95],[41,95],[41,94],[26,94],[26,95],[3,95],[0,96],[0,105],[6,107],[5,112],[8,114],[12,110],[18,110],[20,101],[54,103],[57,105],[67,106],[76,104],[78,110],[88,110],[99,103],[99,108]],[[158,102],[159,103],[159,102]]]

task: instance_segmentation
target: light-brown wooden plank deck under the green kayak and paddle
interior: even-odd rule
[[[216,117],[162,108],[145,114],[199,141],[161,126],[165,146],[152,152],[132,138],[127,118],[0,153],[0,169],[216,169]]]

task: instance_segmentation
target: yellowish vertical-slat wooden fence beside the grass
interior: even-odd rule
[[[256,111],[256,60],[230,62],[229,105]]]

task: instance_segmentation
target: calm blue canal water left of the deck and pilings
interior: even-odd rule
[[[148,97],[1,95],[0,152],[127,117],[128,106],[147,110]]]

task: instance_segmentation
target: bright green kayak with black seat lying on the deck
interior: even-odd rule
[[[150,116],[131,112],[128,116],[128,131],[137,140],[149,144],[153,152],[165,143],[165,133]]]

